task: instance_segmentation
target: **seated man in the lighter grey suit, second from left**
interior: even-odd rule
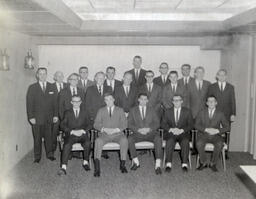
[[[127,173],[125,161],[128,151],[128,140],[123,131],[127,128],[127,119],[122,108],[114,105],[114,97],[111,93],[105,93],[104,101],[106,106],[100,108],[94,121],[94,128],[98,131],[99,137],[95,140],[94,149],[94,176],[100,176],[100,158],[102,149],[109,142],[116,142],[120,145],[121,163],[120,170]]]

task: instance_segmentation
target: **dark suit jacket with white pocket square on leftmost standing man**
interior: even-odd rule
[[[49,82],[45,92],[39,82],[30,85],[26,97],[28,119],[35,118],[37,125],[53,123],[53,117],[58,116],[57,92]]]

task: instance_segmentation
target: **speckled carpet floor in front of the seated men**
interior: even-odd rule
[[[248,153],[230,153],[227,171],[218,165],[219,172],[210,169],[183,173],[178,153],[174,155],[171,173],[157,176],[154,173],[153,156],[139,156],[141,167],[137,171],[128,170],[128,174],[119,171],[118,155],[109,153],[110,159],[102,160],[100,178],[93,177],[93,171],[85,172],[81,160],[69,161],[68,174],[59,177],[59,161],[50,162],[43,158],[40,164],[33,163],[33,154],[29,153],[11,171],[5,179],[8,185],[7,197],[10,199],[254,199],[255,184],[243,183],[246,176],[239,165],[256,164]],[[59,153],[57,154],[59,157]],[[130,167],[130,162],[127,162]],[[254,192],[253,192],[254,191]],[[8,193],[10,192],[10,193]]]

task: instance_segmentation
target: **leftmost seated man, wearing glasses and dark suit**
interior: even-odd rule
[[[83,168],[89,171],[89,155],[90,155],[90,137],[88,131],[91,129],[88,114],[80,107],[82,103],[79,95],[72,96],[72,109],[67,110],[64,114],[64,119],[60,123],[60,128],[64,132],[64,147],[61,156],[61,169],[59,175],[66,175],[67,163],[72,146],[75,143],[80,143],[83,151]]]

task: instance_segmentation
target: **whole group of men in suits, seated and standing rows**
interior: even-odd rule
[[[165,171],[172,168],[175,144],[181,147],[182,169],[188,170],[190,132],[198,130],[196,147],[200,155],[199,170],[208,166],[204,146],[214,144],[210,167],[217,171],[216,160],[223,146],[221,134],[229,131],[235,119],[236,105],[234,87],[227,82],[227,71],[220,69],[217,82],[204,80],[204,68],[181,66],[182,78],[177,71],[170,71],[168,64],[159,66],[160,76],[141,67],[142,58],[135,56],[133,69],[124,73],[122,82],[115,79],[115,68],[106,73],[97,72],[94,81],[88,79],[88,68],[80,67],[79,74],[72,73],[64,83],[63,73],[57,71],[53,84],[46,81],[47,69],[37,70],[37,83],[27,92],[28,119],[34,136],[34,162],[41,159],[42,137],[45,140],[46,156],[55,160],[57,135],[64,132],[64,148],[59,174],[66,174],[67,161],[74,143],[84,148],[83,168],[88,171],[90,138],[89,130],[99,131],[94,147],[94,176],[100,176],[100,159],[103,146],[108,142],[120,145],[120,170],[125,167],[127,151],[132,157],[131,170],[140,167],[135,144],[150,141],[155,147],[155,173],[161,174],[162,139],[158,129],[164,130],[166,140]],[[125,129],[132,132],[128,138]]]

